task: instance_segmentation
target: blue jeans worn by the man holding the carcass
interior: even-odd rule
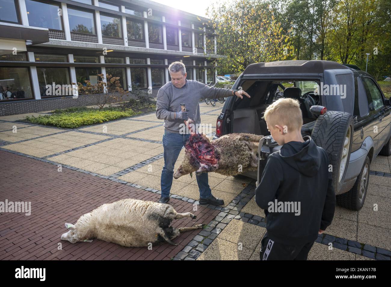
[[[182,147],[188,141],[190,134],[175,134],[172,132],[164,132],[163,149],[164,149],[164,167],[161,171],[161,197],[169,197],[172,185],[172,176],[174,175],[174,164],[178,159]],[[190,176],[190,175],[184,175]],[[200,198],[210,198],[212,191],[208,184],[208,173],[196,175],[199,188]]]

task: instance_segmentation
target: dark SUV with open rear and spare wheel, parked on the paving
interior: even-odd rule
[[[292,86],[285,90],[287,86]],[[352,210],[364,205],[371,162],[391,155],[391,102],[368,73],[332,61],[278,61],[249,65],[233,85],[251,98],[227,98],[217,118],[214,139],[230,133],[270,135],[263,112],[277,98],[294,98],[303,114],[302,135],[326,150],[332,165],[337,204]],[[326,87],[335,93],[326,93]],[[274,152],[272,138],[261,147]],[[242,175],[260,180],[258,172]]]

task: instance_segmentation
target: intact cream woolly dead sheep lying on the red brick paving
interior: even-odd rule
[[[172,228],[171,221],[196,216],[190,212],[177,213],[164,203],[123,199],[106,203],[81,216],[75,225],[65,223],[69,231],[61,235],[71,243],[100,239],[126,247],[143,247],[168,242],[181,232],[203,228],[203,225]]]

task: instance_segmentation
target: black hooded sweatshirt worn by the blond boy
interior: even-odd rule
[[[311,137],[303,139],[304,143],[291,141],[269,155],[255,189],[255,201],[265,210],[268,237],[288,245],[315,241],[319,229],[331,224],[335,211],[328,155]],[[278,209],[280,202],[285,210]]]

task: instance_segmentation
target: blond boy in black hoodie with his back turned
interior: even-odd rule
[[[260,260],[307,260],[318,234],[334,216],[328,155],[310,136],[301,136],[303,119],[297,100],[277,100],[267,107],[264,119],[282,148],[267,158],[255,190],[267,230]]]

